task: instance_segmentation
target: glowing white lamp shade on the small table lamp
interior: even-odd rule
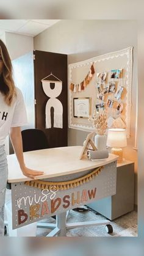
[[[108,147],[126,147],[126,130],[125,129],[109,129],[107,134]]]

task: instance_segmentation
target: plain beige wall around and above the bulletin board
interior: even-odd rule
[[[68,54],[68,64],[134,46],[132,77],[131,137],[124,157],[135,162],[135,115],[137,94],[137,21],[135,20],[61,20],[34,38],[34,49]],[[82,145],[87,133],[68,129],[68,145]],[[135,178],[135,202],[137,202]]]

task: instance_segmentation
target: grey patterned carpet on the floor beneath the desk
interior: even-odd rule
[[[67,222],[96,221],[106,219],[96,211],[84,211],[79,213],[71,210],[68,214]],[[48,218],[42,222],[54,223],[53,218]],[[106,232],[105,226],[79,227],[67,230],[67,236],[137,236],[137,212],[125,214],[110,223],[113,227],[113,233]],[[51,232],[49,229],[37,228],[37,236],[46,236]]]

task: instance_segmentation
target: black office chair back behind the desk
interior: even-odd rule
[[[23,152],[49,148],[45,133],[39,129],[23,130],[21,131],[21,136],[23,140]]]

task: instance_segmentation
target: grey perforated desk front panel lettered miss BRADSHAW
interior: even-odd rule
[[[86,170],[77,174],[48,178],[43,181],[72,181],[90,174]],[[18,229],[48,216],[63,213],[76,207],[112,196],[116,193],[117,161],[107,164],[92,180],[69,189],[40,189],[24,182],[12,183],[13,229]]]

